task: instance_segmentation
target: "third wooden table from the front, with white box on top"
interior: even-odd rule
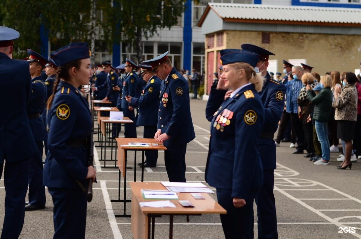
[[[104,167],[102,168],[106,168],[105,166],[105,161],[106,160],[106,143],[108,143],[108,145],[110,145],[112,151],[110,154],[110,161],[113,161],[113,140],[109,140],[108,142],[108,124],[116,124],[117,128],[116,128],[116,132],[118,132],[118,125],[122,124],[122,123],[134,123],[130,118],[128,117],[124,117],[123,119],[119,119],[119,120],[112,120],[109,117],[106,116],[100,116],[100,132],[104,135]],[[111,144],[110,144],[111,143]],[[101,147],[101,151],[100,151],[100,160],[103,160],[103,138],[101,138],[100,140],[100,147]],[[115,144],[115,159],[114,159],[114,168],[117,168],[117,144]],[[113,168],[113,167],[112,167]]]

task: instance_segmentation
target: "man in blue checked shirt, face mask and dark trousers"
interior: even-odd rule
[[[300,94],[300,90],[303,87],[301,81],[303,75],[303,69],[301,66],[295,66],[292,68],[293,80],[286,83],[286,112],[291,114],[292,127],[296,134],[297,147],[293,154],[303,153],[304,150],[304,134],[302,129],[302,123],[298,118],[298,104],[297,98]]]

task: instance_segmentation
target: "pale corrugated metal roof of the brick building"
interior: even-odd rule
[[[361,9],[209,3],[198,26],[202,25],[210,9],[225,21],[335,26],[361,24]]]

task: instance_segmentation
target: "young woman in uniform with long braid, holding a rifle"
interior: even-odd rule
[[[87,214],[86,179],[95,179],[87,166],[87,138],[92,121],[78,87],[92,76],[87,43],[73,43],[51,53],[58,66],[48,100],[48,148],[43,183],[52,196],[54,238],[84,238]]]

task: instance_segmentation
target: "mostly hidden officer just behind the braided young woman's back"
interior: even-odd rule
[[[48,101],[49,97],[53,94],[53,86],[54,86],[54,82],[55,82],[55,79],[56,79],[56,70],[58,69],[57,66],[51,60],[50,57],[48,57],[48,61],[49,61],[49,63],[45,65],[45,73],[47,74],[48,78],[44,82],[45,86],[47,88],[47,96],[46,96],[46,99],[45,99],[44,110],[43,110],[43,113],[42,113],[42,119],[43,119],[45,129],[46,129],[46,126],[47,126],[47,123],[46,123],[47,122],[46,121],[46,115],[47,115],[46,105],[47,105],[47,101]],[[46,132],[46,136],[48,137],[48,132]],[[47,155],[47,153],[48,153],[47,140],[44,140],[44,150],[45,150],[45,155]]]

